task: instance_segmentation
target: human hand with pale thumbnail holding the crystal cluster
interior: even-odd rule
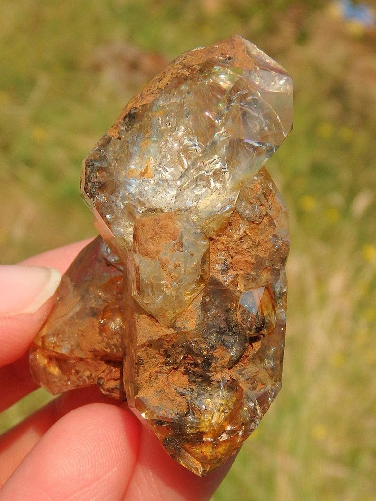
[[[23,264],[64,273],[87,243]],[[0,267],[0,412],[37,388],[28,349],[58,282],[46,269]],[[97,388],[74,390],[0,437],[0,501],[204,501],[231,462],[200,478],[173,461],[126,404]]]

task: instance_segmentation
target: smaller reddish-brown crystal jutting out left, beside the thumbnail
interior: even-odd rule
[[[31,349],[34,378],[53,394],[98,383],[119,397],[123,274],[97,237],[62,277],[55,305]]]

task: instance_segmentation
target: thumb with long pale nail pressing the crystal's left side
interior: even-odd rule
[[[23,266],[0,266],[0,366],[28,350],[51,309],[58,271],[64,273],[88,241],[50,250]],[[46,266],[53,268],[41,268]]]

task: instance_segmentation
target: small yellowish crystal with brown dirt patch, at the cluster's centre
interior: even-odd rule
[[[140,216],[133,228],[133,297],[170,325],[209,278],[209,241],[189,215]]]

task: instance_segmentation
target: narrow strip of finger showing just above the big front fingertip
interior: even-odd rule
[[[113,399],[105,397],[95,386],[81,388],[64,393],[4,433],[0,439],[0,488],[58,419],[77,407],[93,402],[115,403]]]

